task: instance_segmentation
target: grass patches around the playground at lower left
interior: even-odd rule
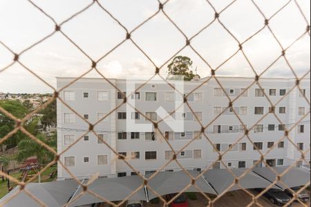
[[[41,182],[44,183],[44,182],[55,181],[55,179],[57,177],[57,173],[55,173],[53,175],[53,177],[50,177],[50,173],[54,172],[55,170],[57,170],[57,166],[50,166],[50,168],[48,168],[44,172],[42,172]],[[28,175],[34,175],[34,172],[30,171]],[[15,177],[19,181],[21,180],[21,172],[14,172],[14,173],[10,174],[10,176]],[[34,179],[34,181],[32,181],[32,182],[34,182],[34,183],[38,182],[38,177],[36,177]],[[17,186],[17,184],[12,183],[12,181],[10,181],[10,186]],[[0,198],[5,196],[7,193],[8,193],[8,181],[6,181],[6,179],[4,179],[4,181],[2,181],[2,179],[0,179]]]

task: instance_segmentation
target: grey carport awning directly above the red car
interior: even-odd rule
[[[192,177],[197,177],[199,174],[196,171],[188,171]],[[150,175],[151,176],[151,175]],[[149,177],[150,177],[149,176]],[[156,191],[159,195],[167,195],[170,193],[179,193],[186,186],[191,184],[191,178],[184,171],[180,172],[159,172],[153,179],[148,182],[149,186]],[[204,193],[215,194],[216,192],[209,186],[207,181],[205,181],[202,177],[197,179],[196,186],[202,190]],[[194,186],[190,186],[185,190],[185,192],[200,192]],[[155,195],[150,189],[148,191],[149,199],[153,199],[158,197]]]

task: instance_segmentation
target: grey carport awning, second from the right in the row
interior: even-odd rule
[[[245,171],[246,169],[232,169],[232,172],[234,175],[236,175],[236,177],[240,177]],[[234,183],[234,176],[227,169],[208,170],[205,172],[204,176],[207,181],[209,181],[209,183],[215,188],[218,194],[223,193],[223,191],[225,191]],[[239,184],[243,188],[266,188],[267,186],[271,185],[271,182],[250,171],[247,173],[247,175],[239,179]],[[273,188],[278,187],[274,186]],[[241,189],[241,187],[237,184],[234,184],[234,186],[232,186],[232,188],[230,188],[228,191],[238,189]]]

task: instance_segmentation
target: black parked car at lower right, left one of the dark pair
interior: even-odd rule
[[[261,192],[265,189],[263,188],[256,188],[255,189],[258,192]],[[292,199],[290,196],[288,196],[283,190],[270,188],[267,190],[264,194],[264,197],[270,200],[272,204],[281,205],[287,204],[290,199]]]

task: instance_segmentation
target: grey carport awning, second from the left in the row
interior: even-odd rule
[[[139,176],[131,177],[117,177],[117,178],[98,178],[91,185],[88,186],[88,189],[93,193],[104,197],[109,201],[122,201],[126,199],[133,191],[143,186],[144,180]],[[77,190],[75,197],[78,197],[82,192],[82,188]],[[144,193],[144,188],[138,190],[135,195],[131,196],[129,199],[133,200],[146,200],[146,195]],[[82,197],[79,197],[74,201],[70,206],[83,206],[86,204],[94,204],[104,202],[102,199],[97,198],[90,193],[86,192]]]

